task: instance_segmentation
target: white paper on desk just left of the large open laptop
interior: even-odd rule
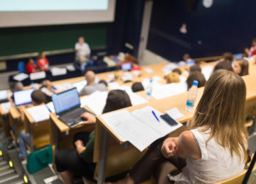
[[[50,118],[50,111],[46,108],[46,105],[37,105],[32,108],[27,108],[27,111],[34,122],[42,122]]]

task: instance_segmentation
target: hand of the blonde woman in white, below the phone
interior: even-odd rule
[[[169,158],[171,156],[174,156],[176,153],[176,146],[178,144],[177,137],[169,137],[164,140],[164,143],[161,147],[161,152],[164,157]]]

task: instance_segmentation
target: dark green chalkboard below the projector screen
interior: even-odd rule
[[[107,23],[0,28],[0,57],[71,49],[80,36],[92,50],[105,48]]]

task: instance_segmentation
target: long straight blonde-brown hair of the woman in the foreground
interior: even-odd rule
[[[220,146],[229,149],[232,157],[235,153],[244,162],[248,137],[245,96],[245,82],[240,76],[223,69],[215,71],[206,82],[191,125],[201,127],[203,132],[210,130],[208,141],[215,138]]]

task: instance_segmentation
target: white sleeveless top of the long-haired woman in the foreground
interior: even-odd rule
[[[177,176],[170,176],[175,183],[216,183],[242,173],[245,163],[238,155],[230,155],[230,151],[220,146],[215,139],[206,141],[210,134],[200,132],[198,129],[191,130],[202,157],[199,160],[187,158],[186,167]]]

